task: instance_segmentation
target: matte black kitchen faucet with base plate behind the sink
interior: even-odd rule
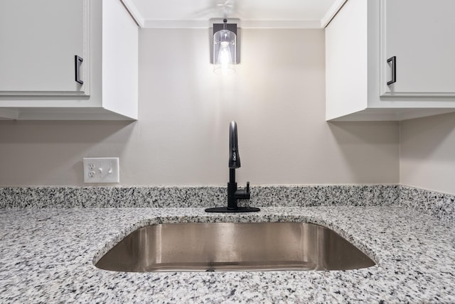
[[[250,182],[246,189],[237,189],[235,182],[235,169],[240,168],[239,146],[237,141],[237,124],[231,121],[229,125],[229,183],[228,207],[215,207],[205,209],[205,212],[256,212],[259,208],[239,207],[237,200],[250,200]]]

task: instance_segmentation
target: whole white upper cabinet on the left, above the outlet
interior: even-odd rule
[[[137,119],[138,35],[120,0],[0,0],[0,119]]]

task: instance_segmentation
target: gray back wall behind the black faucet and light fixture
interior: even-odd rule
[[[2,121],[0,185],[84,185],[95,156],[119,156],[120,185],[225,185],[231,120],[240,183],[399,183],[397,123],[324,119],[323,30],[240,38],[235,75],[215,75],[207,29],[141,29],[139,120]]]

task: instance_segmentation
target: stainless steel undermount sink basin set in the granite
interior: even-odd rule
[[[301,222],[154,224],[95,266],[110,271],[346,270],[375,265],[340,235]]]

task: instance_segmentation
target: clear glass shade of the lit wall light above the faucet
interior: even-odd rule
[[[213,72],[228,74],[235,72],[237,35],[223,29],[213,34]]]

